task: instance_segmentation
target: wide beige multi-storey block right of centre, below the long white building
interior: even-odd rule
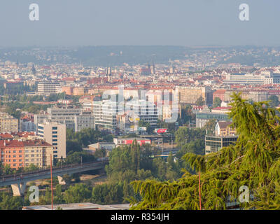
[[[179,103],[195,104],[202,97],[205,104],[213,104],[213,92],[209,86],[179,86]]]

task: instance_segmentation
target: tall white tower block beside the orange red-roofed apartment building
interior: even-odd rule
[[[55,159],[66,158],[66,125],[59,123],[38,124],[38,137],[53,146]]]

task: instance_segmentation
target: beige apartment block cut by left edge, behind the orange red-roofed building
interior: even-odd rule
[[[0,113],[0,133],[18,132],[18,119],[8,113]]]

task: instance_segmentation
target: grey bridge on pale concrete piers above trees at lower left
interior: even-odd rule
[[[64,174],[77,174],[90,170],[98,170],[104,168],[106,164],[108,164],[108,160],[53,167],[52,177],[57,176],[59,184],[62,184],[62,176]],[[50,179],[50,169],[39,169],[34,172],[1,176],[0,187],[10,185],[12,186],[13,196],[22,196],[25,193],[27,182],[41,179]]]

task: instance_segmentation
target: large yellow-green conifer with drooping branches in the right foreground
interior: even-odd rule
[[[238,199],[239,188],[248,186],[254,200],[240,203],[244,209],[280,209],[280,118],[269,102],[249,104],[232,95],[229,117],[237,128],[237,144],[217,153],[183,159],[201,173],[202,209],[226,209],[228,198]],[[199,209],[198,176],[185,172],[176,182],[133,181],[141,201],[132,209]]]

